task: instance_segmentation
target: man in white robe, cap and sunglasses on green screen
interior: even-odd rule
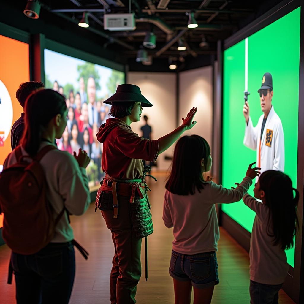
[[[257,126],[254,127],[249,116],[249,104],[245,102],[243,107],[246,120],[244,145],[257,150],[257,167],[261,168],[261,173],[266,170],[284,172],[284,133],[281,119],[271,103],[273,87],[270,73],[263,75],[261,88],[257,92],[260,94],[263,114]]]

